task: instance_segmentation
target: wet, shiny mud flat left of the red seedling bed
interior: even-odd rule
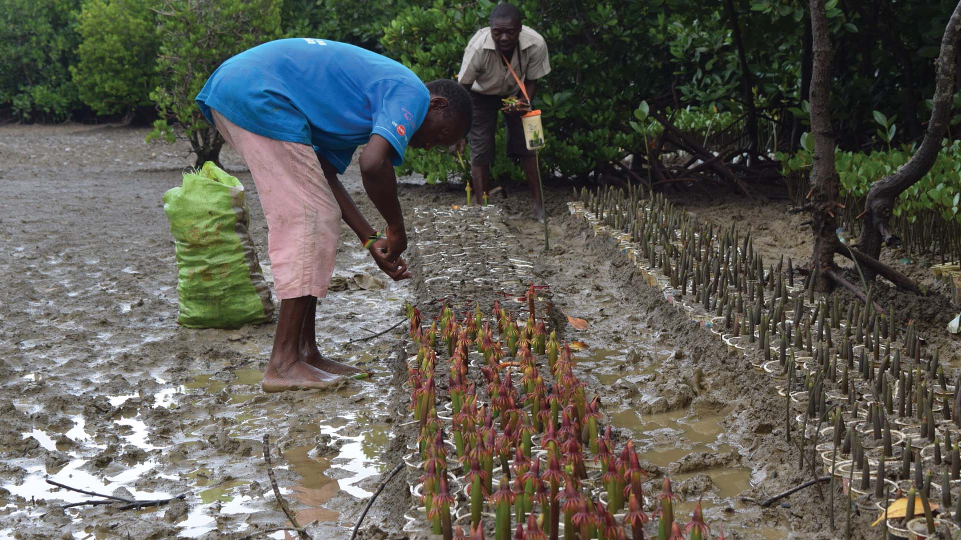
[[[348,342],[401,320],[407,284],[335,291],[318,310],[321,350],[372,370],[375,382],[264,394],[273,325],[177,326],[160,196],[180,183],[186,152],[145,145],[144,135],[0,128],[0,537],[233,538],[283,526],[263,468],[264,433],[299,520],[316,520],[315,538],[349,537],[393,465],[392,405],[402,393],[390,381],[403,358],[390,334]],[[269,263],[257,190],[235,156],[225,164],[248,188],[251,231]],[[359,189],[356,171],[345,182]],[[382,276],[346,228],[341,242],[338,275]],[[132,499],[186,497],[139,511],[62,510],[95,498],[48,477]],[[388,515],[375,508],[368,520]]]

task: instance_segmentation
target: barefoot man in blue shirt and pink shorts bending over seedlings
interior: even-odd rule
[[[427,85],[407,67],[347,43],[289,38],[225,61],[197,95],[204,115],[250,168],[268,228],[281,310],[265,391],[319,388],[359,370],[326,358],[314,329],[327,294],[340,218],[384,273],[410,277],[394,166],[407,146],[446,147],[471,125],[470,94]],[[376,231],[337,179],[358,146],[364,190],[386,221]]]

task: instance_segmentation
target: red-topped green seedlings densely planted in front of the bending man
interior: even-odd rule
[[[408,309],[420,436],[406,461],[420,478],[405,530],[445,540],[706,538],[700,502],[689,523],[676,521],[670,479],[653,499],[644,493],[633,441],[619,445],[602,426],[570,347],[536,319],[535,295],[530,285],[526,321],[498,302],[461,320],[444,307],[430,324]]]

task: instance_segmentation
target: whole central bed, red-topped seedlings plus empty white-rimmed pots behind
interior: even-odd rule
[[[407,479],[411,537],[699,538],[700,504],[676,521],[634,442],[579,380],[566,320],[494,207],[417,209],[419,296],[409,307]],[[483,258],[466,257],[466,252]],[[680,518],[678,517],[678,520]],[[685,525],[681,525],[684,523]],[[684,532],[682,532],[684,531]],[[687,532],[689,531],[689,532]],[[683,534],[683,536],[681,536]],[[642,536],[643,535],[643,536]]]

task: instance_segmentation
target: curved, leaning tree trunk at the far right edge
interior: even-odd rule
[[[861,251],[871,258],[879,258],[881,244],[898,245],[900,239],[891,232],[889,220],[891,210],[902,191],[918,182],[931,169],[941,151],[942,139],[948,131],[951,113],[951,97],[956,70],[955,56],[961,26],[961,2],[954,8],[941,39],[941,53],[938,55],[936,85],[934,89],[934,108],[927,124],[927,133],[918,152],[904,163],[894,174],[882,178],[871,185],[865,201],[864,228],[861,233]],[[873,270],[865,272],[865,277],[874,279]]]

